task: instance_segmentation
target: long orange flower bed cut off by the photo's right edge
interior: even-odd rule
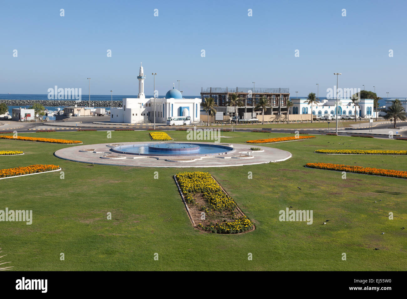
[[[362,173],[365,175],[380,175],[382,177],[398,177],[401,179],[407,179],[407,171],[392,170],[392,169],[381,169],[381,168],[371,168],[371,167],[361,167],[361,166],[350,166],[342,164],[330,164],[330,163],[307,163],[307,167],[337,170],[345,172]]]

